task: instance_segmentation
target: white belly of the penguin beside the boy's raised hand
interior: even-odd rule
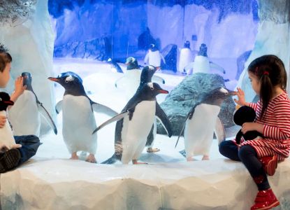
[[[24,90],[9,109],[8,116],[15,136],[31,134],[39,136],[41,116],[33,92]]]

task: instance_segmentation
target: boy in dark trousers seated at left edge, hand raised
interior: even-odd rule
[[[10,79],[12,57],[8,50],[0,44],[0,88],[6,87]],[[10,96],[10,100],[16,102],[17,98],[24,92],[23,78],[17,77],[15,80],[15,90]],[[8,108],[9,109],[9,108]],[[6,117],[0,116],[0,129],[6,124]],[[13,169],[35,155],[40,141],[34,135],[15,136],[16,145],[13,148],[1,144],[0,139],[0,173]]]

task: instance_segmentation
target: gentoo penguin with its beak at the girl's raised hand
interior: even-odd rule
[[[217,87],[206,94],[202,94],[198,100],[199,102],[189,111],[180,132],[181,135],[184,130],[184,148],[187,161],[193,160],[194,155],[203,155],[203,160],[209,159],[214,131],[219,141],[224,140],[224,127],[217,116],[224,99],[233,94],[235,92],[231,90]],[[177,142],[179,138],[180,136]]]

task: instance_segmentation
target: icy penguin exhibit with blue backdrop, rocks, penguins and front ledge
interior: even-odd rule
[[[254,204],[252,177],[219,144],[241,129],[233,91],[259,100],[247,66],[277,55],[289,73],[289,0],[4,0],[0,43],[13,58],[1,91],[26,85],[7,111],[13,135],[41,141],[0,175],[0,209]],[[290,209],[289,158],[268,181]]]

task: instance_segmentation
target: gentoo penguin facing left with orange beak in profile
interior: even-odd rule
[[[57,78],[48,78],[62,85],[65,89],[64,98],[57,103],[56,111],[62,109],[62,135],[71,153],[71,159],[78,159],[77,152],[88,152],[87,162],[96,162],[96,129],[94,111],[115,116],[117,112],[93,102],[85,93],[82,79],[71,71],[60,73]]]

